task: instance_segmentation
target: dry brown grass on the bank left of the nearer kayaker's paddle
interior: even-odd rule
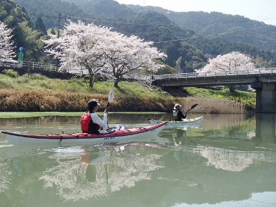
[[[99,101],[106,99],[104,95],[95,95]],[[88,93],[54,92],[50,90],[0,90],[1,111],[83,111]]]

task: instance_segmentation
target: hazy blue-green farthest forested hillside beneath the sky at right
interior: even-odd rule
[[[221,12],[173,12],[154,6],[128,5],[135,12],[155,11],[182,28],[189,28],[204,37],[242,41],[263,50],[276,52],[276,26],[266,25],[239,15]]]

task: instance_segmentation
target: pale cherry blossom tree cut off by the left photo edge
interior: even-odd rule
[[[12,30],[0,21],[0,61],[15,57]]]

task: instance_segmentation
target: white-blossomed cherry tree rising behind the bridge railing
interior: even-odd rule
[[[230,52],[226,55],[218,55],[214,59],[208,60],[208,65],[204,68],[196,70],[196,72],[219,72],[234,70],[250,70],[255,69],[254,63],[250,57],[240,52]],[[235,86],[227,86],[230,92],[234,92]]]

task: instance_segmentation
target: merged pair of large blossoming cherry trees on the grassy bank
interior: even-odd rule
[[[143,67],[159,68],[152,59],[166,55],[151,48],[152,42],[144,42],[135,36],[126,37],[111,29],[69,21],[61,31],[61,37],[48,33],[50,39],[44,41],[46,52],[61,61],[61,70],[68,67],[88,69],[91,88],[95,75],[103,71],[113,75],[117,87],[121,77],[130,72]]]

